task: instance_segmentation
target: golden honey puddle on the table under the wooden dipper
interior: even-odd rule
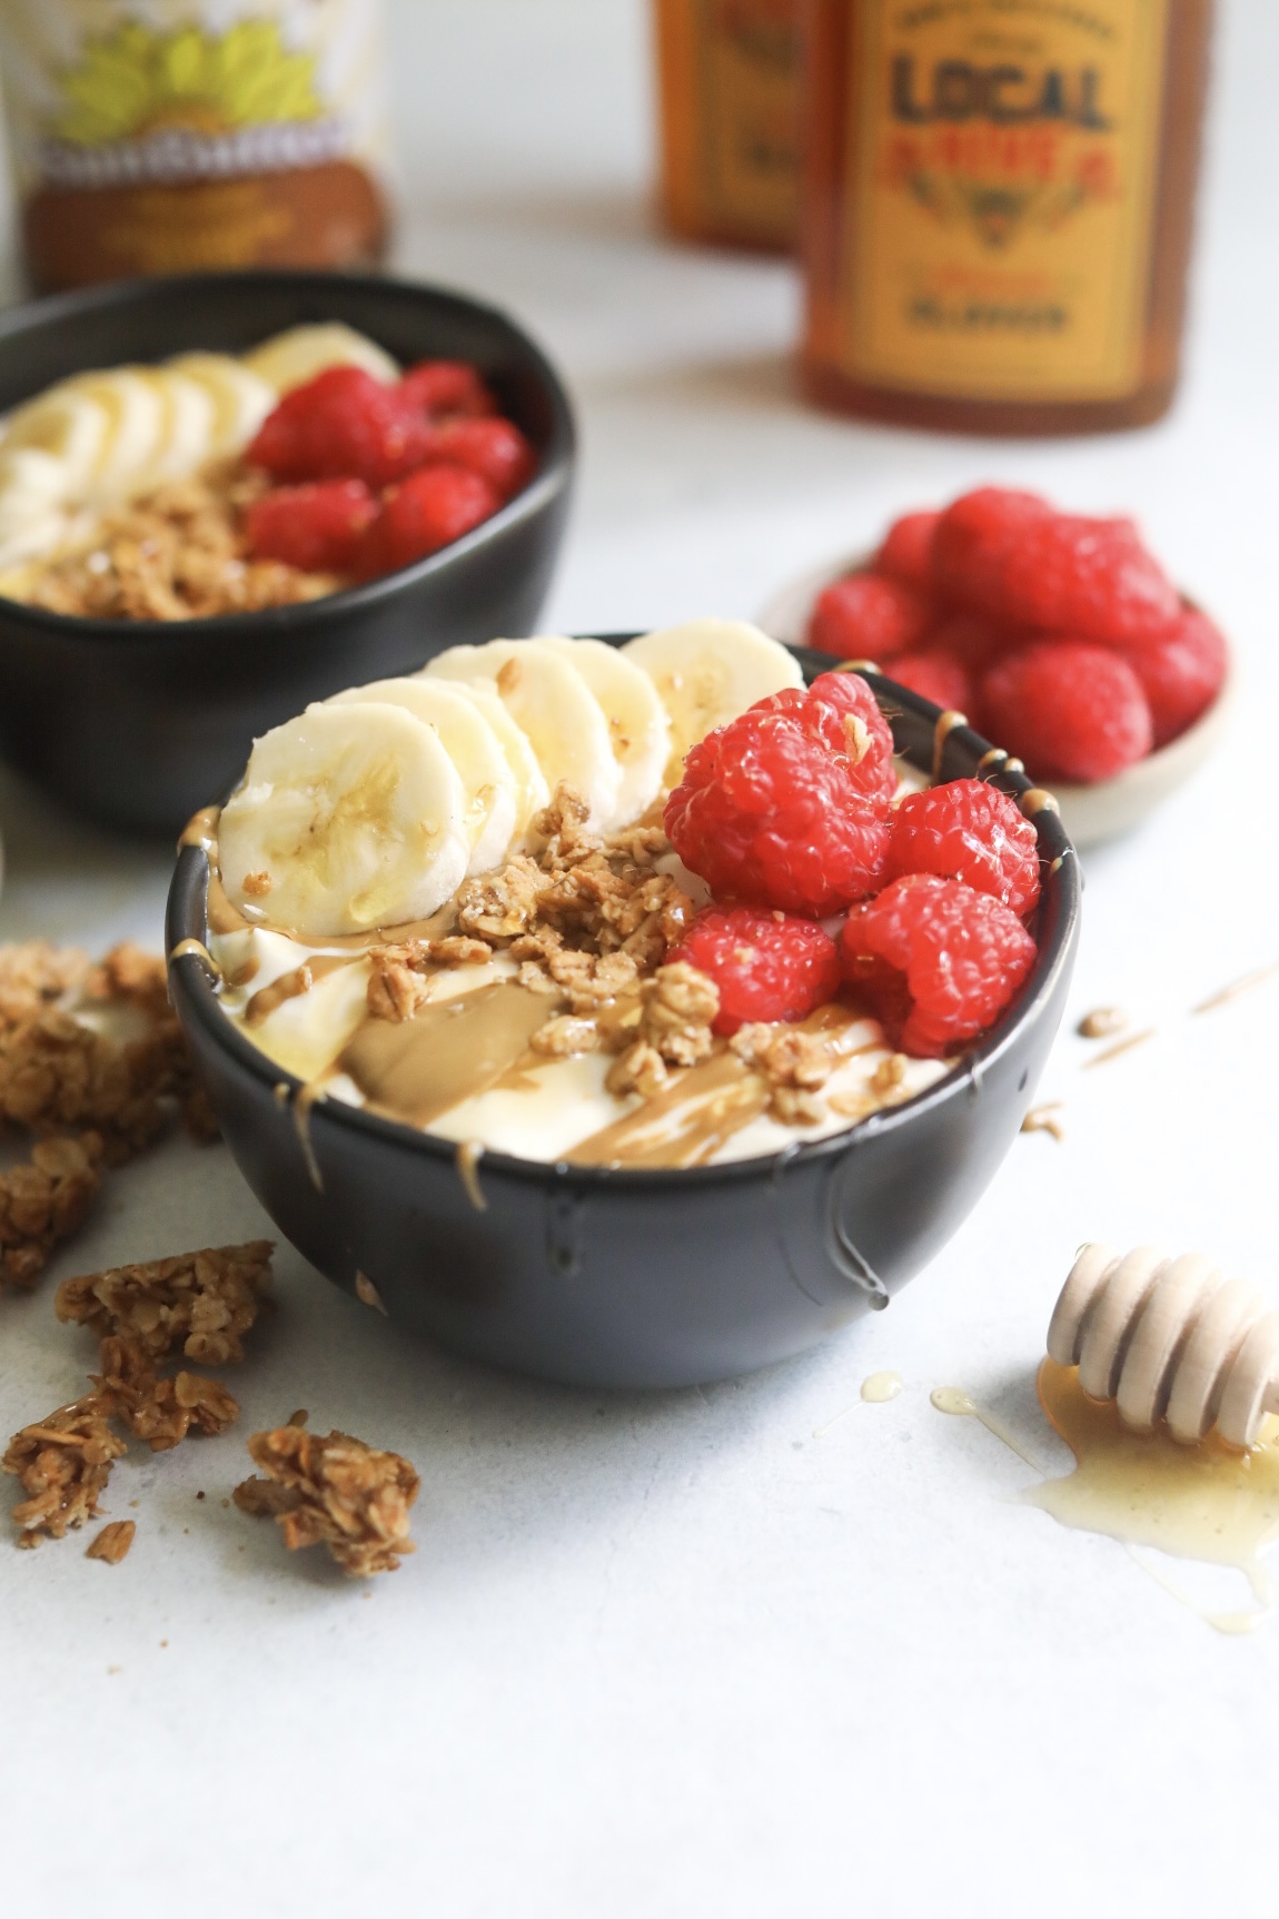
[[[1200,1445],[1177,1445],[1166,1428],[1129,1432],[1112,1403],[1089,1399],[1076,1366],[1045,1359],[1035,1378],[1049,1424],[1076,1457],[1074,1472],[1043,1478],[1020,1499],[1051,1514],[1058,1526],[1103,1533],[1129,1549],[1143,1572],[1220,1633],[1250,1633],[1275,1606],[1275,1583],[1262,1552],[1279,1539],[1279,1418],[1267,1418],[1248,1453],[1208,1433]],[[1035,1472],[1037,1460],[982,1407],[953,1386],[932,1393],[940,1412],[978,1418]],[[1231,1566],[1244,1575],[1258,1606],[1250,1612],[1212,1612],[1183,1593],[1143,1547],[1172,1558]]]

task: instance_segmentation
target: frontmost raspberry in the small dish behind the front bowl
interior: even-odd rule
[[[986,731],[1035,779],[1110,779],[1154,743],[1128,660],[1078,639],[1039,639],[997,660],[980,702]]]

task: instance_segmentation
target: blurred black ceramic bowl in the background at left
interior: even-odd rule
[[[537,447],[537,478],[431,558],[303,606],[136,624],[0,599],[0,754],[107,825],[174,833],[234,785],[257,733],[443,647],[527,633],[545,599],[573,474],[568,397],[514,320],[460,294],[332,272],[61,294],[0,315],[0,413],[88,367],[240,353],[307,320],[345,320],[401,363],[477,365]]]

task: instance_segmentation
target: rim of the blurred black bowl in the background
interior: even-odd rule
[[[324,593],[314,601],[293,601],[286,606],[259,606],[245,612],[209,614],[196,620],[107,620],[98,614],[52,612],[46,606],[31,606],[27,601],[10,599],[0,593],[2,616],[29,622],[33,628],[44,629],[58,639],[84,637],[94,643],[117,647],[138,647],[146,643],[163,647],[165,641],[171,641],[174,628],[178,628],[184,637],[192,635],[194,639],[234,639],[236,633],[247,629],[253,631],[259,645],[265,633],[270,633],[272,639],[286,639],[291,637],[301,626],[314,624],[316,620],[345,620],[351,610],[378,606],[382,601],[393,599],[397,593],[403,593],[424,580],[445,574],[449,566],[479,551],[487,541],[535,518],[548,505],[552,505],[552,501],[570,484],[577,455],[577,424],[568,390],[546,353],[533,340],[533,336],[525,332],[520,320],[516,320],[502,307],[491,305],[485,299],[476,299],[460,288],[443,286],[433,280],[407,280],[397,274],[374,272],[334,274],[290,271],[284,267],[111,280],[104,286],[71,288],[63,294],[48,294],[42,299],[29,299],[19,307],[10,307],[6,313],[0,313],[0,361],[12,342],[21,340],[31,332],[38,332],[50,320],[75,319],[77,315],[92,315],[104,309],[146,307],[159,296],[173,299],[180,299],[184,294],[198,296],[199,292],[207,292],[211,284],[230,288],[242,286],[245,292],[274,288],[303,294],[307,290],[314,290],[318,296],[328,294],[330,297],[334,296],[334,290],[341,292],[345,288],[355,288],[359,292],[378,296],[389,294],[391,297],[405,299],[407,303],[416,299],[435,307],[443,305],[456,309],[460,315],[481,315],[485,320],[495,320],[527,355],[550,401],[550,438],[545,453],[541,455],[537,472],[527,486],[514,495],[514,499],[504,501],[495,514],[481,520],[479,526],[474,526],[468,533],[462,533],[460,539],[451,541],[437,553],[430,553],[426,558],[414,560],[412,566],[401,566],[393,574],[380,574],[376,580],[362,580],[357,585],[341,587],[337,593]],[[136,365],[151,363],[138,361]],[[65,378],[71,376],[67,374]],[[46,391],[46,388],[40,388],[38,391]],[[38,393],[29,397],[35,399]],[[15,405],[21,405],[21,401],[15,401]]]

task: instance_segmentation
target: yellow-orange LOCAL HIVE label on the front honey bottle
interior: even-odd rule
[[[842,367],[982,399],[1141,378],[1168,0],[853,0]]]

